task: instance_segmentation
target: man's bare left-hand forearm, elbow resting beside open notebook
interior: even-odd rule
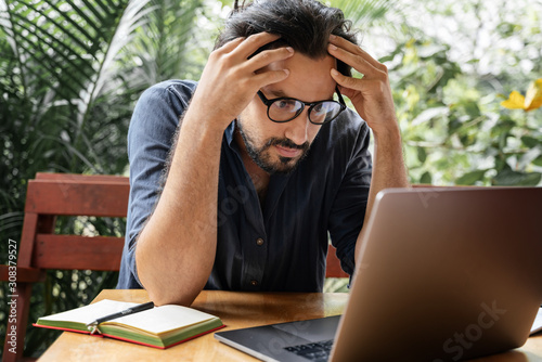
[[[190,305],[215,261],[223,130],[204,124],[189,108],[160,199],[138,238],[138,275],[157,305]]]

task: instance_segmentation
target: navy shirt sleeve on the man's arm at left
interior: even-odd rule
[[[142,287],[134,255],[138,235],[159,198],[173,135],[194,89],[194,82],[158,83],[143,92],[133,111],[128,130],[130,197],[117,288]]]

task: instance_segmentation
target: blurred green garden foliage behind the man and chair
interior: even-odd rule
[[[0,0],[0,255],[18,242],[38,171],[128,174],[126,135],[141,92],[198,79],[233,1]],[[542,3],[335,0],[390,74],[413,183],[540,185],[542,111],[501,102],[542,78]],[[57,229],[124,234],[124,220]],[[90,302],[115,273],[52,271],[29,322]],[[328,281],[326,290],[345,290]],[[0,299],[5,300],[1,285]],[[0,306],[0,336],[7,305]],[[28,332],[27,355],[57,334]],[[2,339],[3,345],[3,339]]]

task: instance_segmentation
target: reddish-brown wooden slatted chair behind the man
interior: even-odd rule
[[[116,176],[37,173],[36,179],[28,181],[16,268],[0,266],[0,281],[13,283],[9,288],[14,287],[7,301],[15,301],[16,308],[16,318],[10,319],[8,313],[3,361],[16,361],[23,355],[31,287],[44,281],[44,270],[119,270],[122,237],[59,235],[54,233],[56,217],[124,218],[129,189],[128,178]],[[348,276],[340,269],[332,246],[326,276]],[[14,335],[10,335],[11,331],[15,331]],[[16,346],[10,344],[13,340]]]

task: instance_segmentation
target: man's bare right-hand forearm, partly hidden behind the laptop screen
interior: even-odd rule
[[[367,224],[376,194],[379,191],[389,188],[409,186],[399,127],[391,127],[380,132],[375,131],[374,144],[373,172],[363,225]],[[360,249],[364,231],[365,228],[360,232],[358,242],[356,243],[356,258]]]

